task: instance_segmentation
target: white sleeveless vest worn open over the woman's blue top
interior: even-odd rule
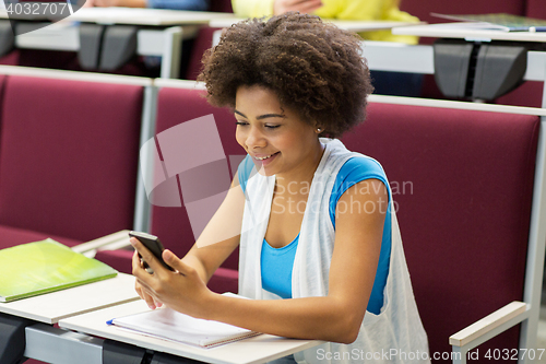
[[[335,231],[329,203],[343,164],[359,153],[335,139],[321,139],[325,150],[314,173],[294,258],[294,298],[328,295]],[[246,188],[239,259],[239,294],[254,300],[278,298],[262,289],[260,256],[275,187],[275,176],[254,174]],[[413,295],[402,238],[392,206],[392,246],[383,307],[366,312],[360,333],[352,344],[327,342],[296,353],[298,363],[430,363],[428,342]]]

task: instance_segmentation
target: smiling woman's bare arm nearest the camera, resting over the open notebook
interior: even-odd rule
[[[133,273],[149,294],[194,317],[283,337],[351,343],[358,336],[373,285],[385,201],[387,190],[377,179],[358,183],[341,197],[329,294],[325,297],[260,301],[218,295],[206,289],[194,268],[169,251],[164,253],[164,259],[181,274],[163,269],[150,275],[136,258],[133,259]],[[349,209],[342,211],[341,206]],[[361,208],[352,210],[352,206]],[[371,206],[376,208],[371,209]],[[381,206],[384,208],[381,209]],[[140,244],[135,247],[141,250]],[[144,253],[147,254],[144,259],[151,256]],[[161,269],[159,263],[150,258],[153,261],[149,263],[154,271]]]

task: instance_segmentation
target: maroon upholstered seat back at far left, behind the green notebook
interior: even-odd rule
[[[0,247],[131,228],[143,86],[8,77],[1,114]]]

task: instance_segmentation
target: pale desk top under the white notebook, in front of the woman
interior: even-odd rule
[[[260,334],[228,344],[203,349],[179,342],[146,337],[135,331],[106,325],[116,317],[149,310],[144,301],[136,301],[106,309],[62,319],[66,329],[117,340],[133,345],[216,364],[254,364],[289,355],[322,343],[317,340],[296,340]]]

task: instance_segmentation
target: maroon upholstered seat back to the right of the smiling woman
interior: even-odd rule
[[[431,353],[523,300],[537,134],[535,116],[371,103],[343,138],[390,179]],[[518,338],[513,328],[484,347]]]

